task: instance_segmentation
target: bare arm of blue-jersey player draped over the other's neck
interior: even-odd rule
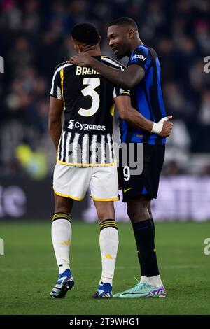
[[[125,71],[120,71],[99,62],[97,59],[94,59],[84,52],[80,52],[78,55],[71,57],[69,62],[78,66],[90,66],[92,69],[102,74],[104,78],[111,81],[111,83],[125,89],[132,89],[135,85],[138,85],[145,75],[144,69],[139,65],[133,64]]]

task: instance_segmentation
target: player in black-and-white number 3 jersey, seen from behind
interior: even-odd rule
[[[100,36],[93,25],[76,25],[71,38],[76,52],[87,52],[107,67],[124,71],[122,64],[101,55]],[[99,218],[102,255],[102,276],[92,297],[112,297],[118,251],[118,228],[113,207],[113,201],[118,200],[118,174],[113,153],[114,104],[120,116],[134,127],[148,132],[153,130],[153,122],[132,108],[129,90],[109,83],[97,70],[88,67],[69,62],[56,67],[49,113],[50,136],[57,151],[52,243],[59,279],[50,293],[54,298],[64,297],[74,286],[69,265],[71,210],[73,200],[83,200],[89,186]],[[162,134],[167,136],[169,132],[164,128]]]

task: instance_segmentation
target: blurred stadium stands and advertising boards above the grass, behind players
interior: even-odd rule
[[[156,220],[210,218],[210,55],[208,0],[1,0],[0,219],[50,218],[55,151],[48,135],[50,82],[55,66],[73,55],[69,32],[92,22],[102,35],[109,22],[130,16],[139,34],[157,50],[167,114],[174,131],[167,141]],[[124,62],[126,64],[126,61]],[[118,140],[118,118],[115,121]],[[116,202],[118,220],[127,221]],[[95,221],[89,195],[73,217]]]

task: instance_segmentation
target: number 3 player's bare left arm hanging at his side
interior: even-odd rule
[[[64,109],[64,103],[62,99],[56,99],[50,96],[50,111],[48,116],[48,129],[50,137],[55,145],[57,151],[59,144],[59,137],[62,132],[62,113]]]

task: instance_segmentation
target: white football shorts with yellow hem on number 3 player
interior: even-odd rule
[[[80,201],[89,186],[93,200],[118,201],[117,167],[71,167],[57,162],[53,176],[55,194]]]

